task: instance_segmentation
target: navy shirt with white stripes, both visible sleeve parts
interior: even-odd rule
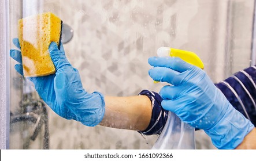
[[[216,84],[233,107],[250,120],[256,127],[256,66],[236,72]],[[168,111],[161,106],[162,98],[158,93],[143,90],[139,95],[147,95],[152,103],[152,116],[149,127],[139,131],[144,135],[159,135],[164,128]]]

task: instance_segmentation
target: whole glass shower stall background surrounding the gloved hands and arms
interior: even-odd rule
[[[147,59],[159,47],[195,52],[214,83],[256,63],[255,0],[5,0],[1,1],[1,149],[151,149],[158,136],[86,127],[53,112],[14,70],[18,20],[51,11],[61,18],[62,43],[88,92],[158,92]],[[17,49],[17,48],[16,48]],[[202,131],[196,148],[214,149]]]

